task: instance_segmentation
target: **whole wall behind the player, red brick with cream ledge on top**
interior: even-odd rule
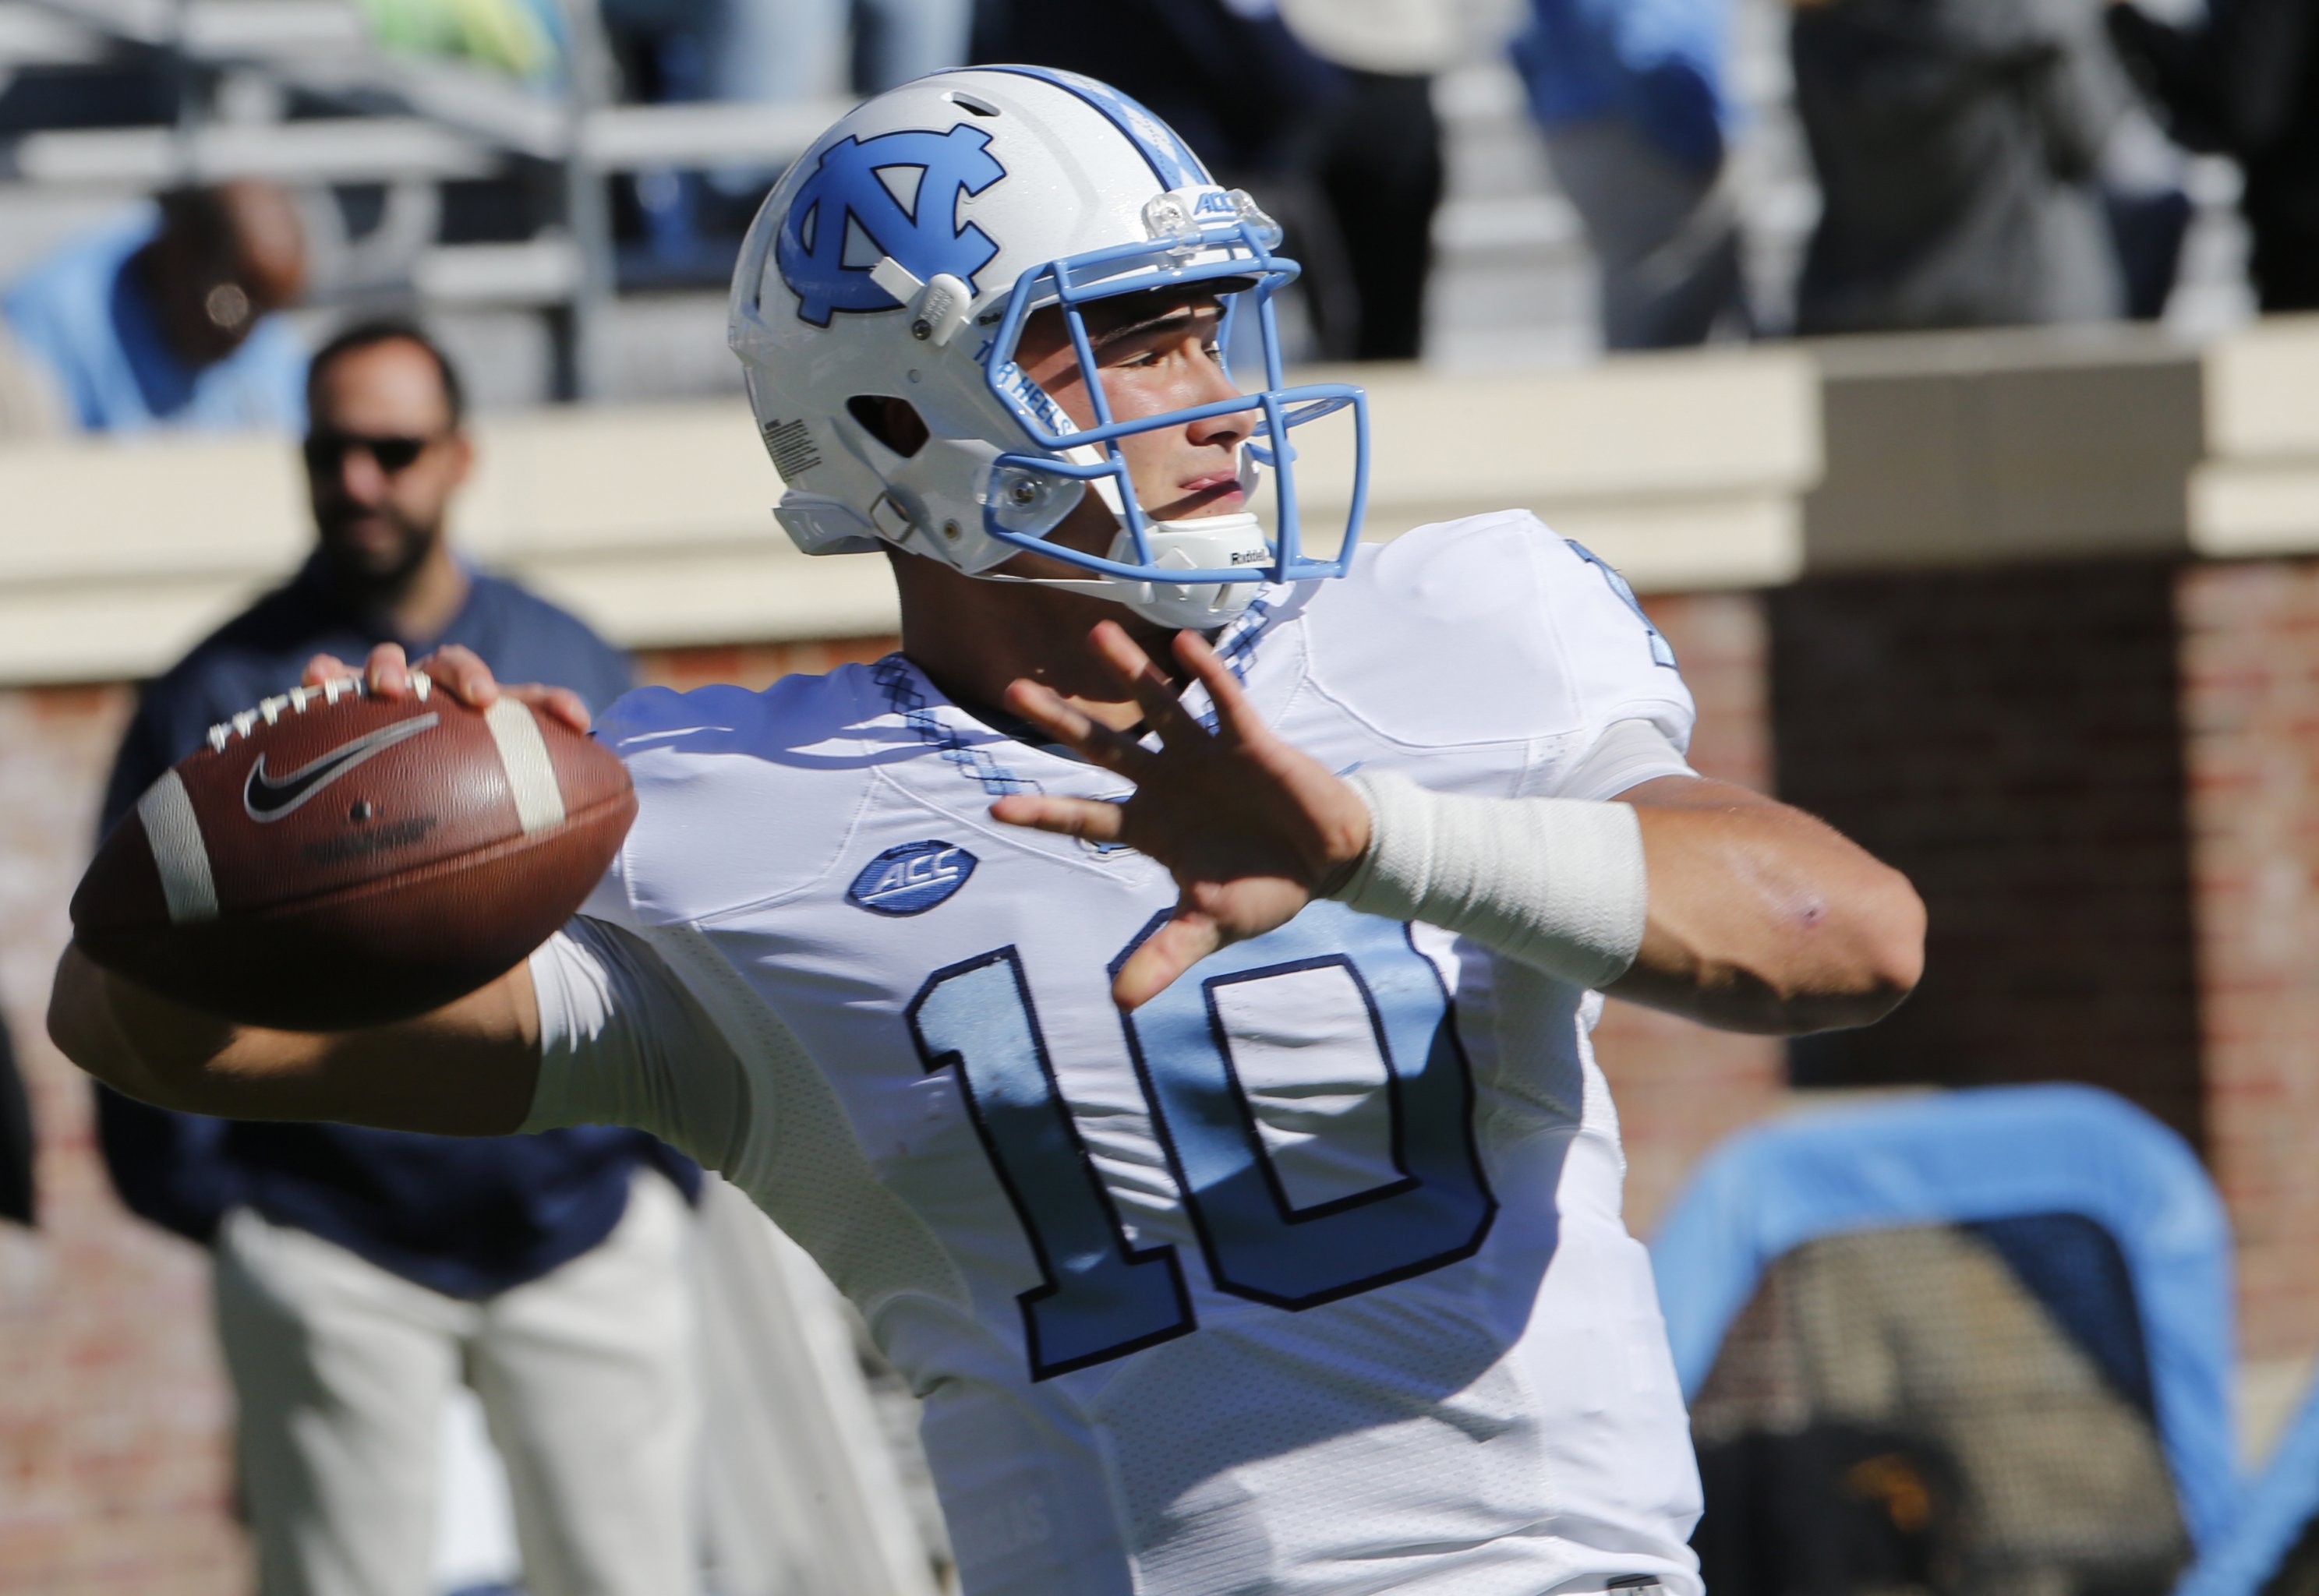
[[[2293,1394],[2319,1350],[2319,325],[1371,385],[1377,534],[1547,513],[1644,589],[1700,698],[1698,766],[1825,812],[1934,907],[1925,991],[1869,1032],[1790,1053],[1612,1007],[1635,1225],[1790,1079],[2099,1081],[2205,1153],[2259,1394]],[[1308,450],[1320,513],[1333,448]],[[466,545],[656,680],[886,647],[879,561],[772,536],[737,408],[499,418],[482,457]],[[104,1190],[39,1007],[118,682],[304,538],[274,443],[0,452],[0,1011],[49,1216],[0,1232],[5,1589],[246,1587],[199,1260]]]

